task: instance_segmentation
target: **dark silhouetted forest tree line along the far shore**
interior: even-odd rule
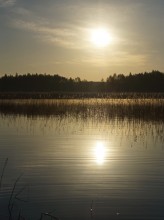
[[[4,75],[0,78],[0,92],[164,92],[164,73],[115,73],[101,82],[57,74]]]

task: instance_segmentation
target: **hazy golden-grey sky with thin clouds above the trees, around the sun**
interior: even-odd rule
[[[0,76],[164,72],[164,0],[0,0]],[[105,30],[107,45],[92,35]]]

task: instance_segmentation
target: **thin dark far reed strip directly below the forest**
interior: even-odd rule
[[[135,99],[164,98],[164,93],[143,92],[0,92],[0,99]]]

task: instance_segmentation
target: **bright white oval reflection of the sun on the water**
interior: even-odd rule
[[[105,162],[105,157],[106,157],[106,148],[104,142],[97,141],[94,149],[94,153],[95,153],[96,163],[102,165]]]

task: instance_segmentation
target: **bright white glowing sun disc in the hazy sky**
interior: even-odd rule
[[[112,42],[112,36],[106,28],[96,28],[91,30],[91,43],[96,47],[107,47]]]

